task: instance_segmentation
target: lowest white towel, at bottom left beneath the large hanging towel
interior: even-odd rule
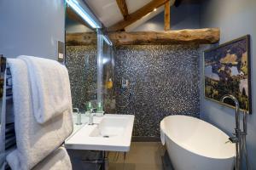
[[[38,163],[38,165],[32,170],[72,170],[70,158],[67,154],[67,150],[64,147],[60,147],[47,156],[44,161]]]

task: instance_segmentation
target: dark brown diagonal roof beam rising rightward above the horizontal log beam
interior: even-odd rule
[[[133,22],[140,20],[146,14],[152,12],[154,8],[159,8],[161,5],[165,4],[169,0],[152,0],[150,3],[146,4],[142,8],[129,15],[127,20],[121,20],[118,23],[110,26],[108,31],[122,31],[126,26],[131,25]],[[173,0],[172,0],[173,1]]]

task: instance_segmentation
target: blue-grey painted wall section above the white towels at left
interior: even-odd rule
[[[57,59],[57,41],[65,39],[63,0],[1,0],[0,54]]]

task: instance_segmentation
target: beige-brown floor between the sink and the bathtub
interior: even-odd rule
[[[125,163],[124,153],[119,153],[115,162],[115,153],[109,153],[108,170],[162,170],[161,156],[164,151],[158,142],[133,142],[131,150],[125,156]]]

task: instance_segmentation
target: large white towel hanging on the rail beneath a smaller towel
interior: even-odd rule
[[[32,109],[31,84],[27,66],[22,59],[8,59],[13,77],[15,133],[17,148],[8,163],[13,170],[27,170],[57,149],[73,132],[72,106],[49,122],[37,122]],[[9,156],[9,157],[10,157]],[[18,162],[18,167],[12,165]]]

